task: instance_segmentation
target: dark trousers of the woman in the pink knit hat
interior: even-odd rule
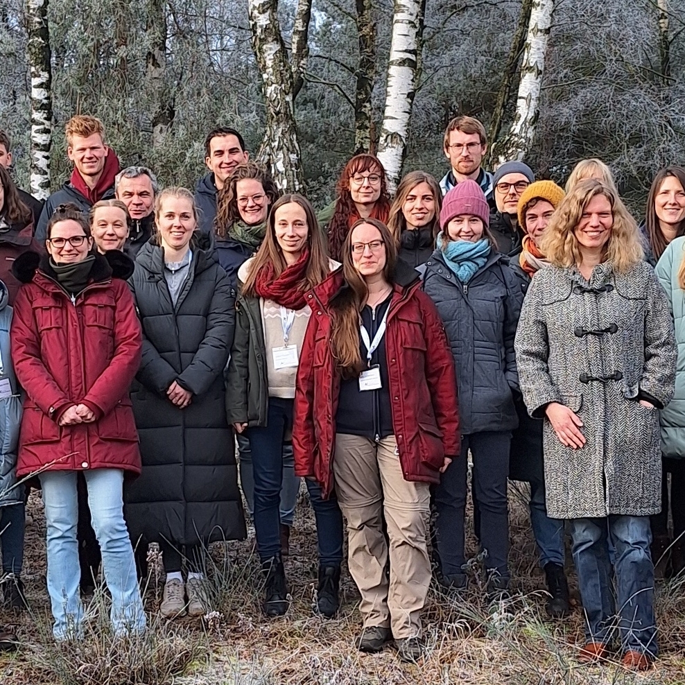
[[[468,453],[474,461],[474,509],[478,509],[476,533],[485,550],[485,568],[509,578],[509,510],[507,478],[509,432],[472,433],[462,436],[461,454],[447,467],[435,490],[437,550],[442,574],[464,573],[464,523],[467,497]]]

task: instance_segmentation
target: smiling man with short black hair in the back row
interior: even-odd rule
[[[195,189],[195,202],[200,208],[200,230],[209,233],[216,218],[216,194],[223,189],[231,172],[250,155],[245,152],[245,141],[234,128],[215,128],[205,138],[205,164],[209,172]]]

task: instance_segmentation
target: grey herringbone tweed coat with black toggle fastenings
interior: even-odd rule
[[[652,267],[615,272],[549,266],[532,279],[514,343],[528,413],[550,402],[582,419],[587,443],[565,447],[544,422],[547,511],[555,519],[646,516],[661,509],[659,412],[673,397],[676,347]]]

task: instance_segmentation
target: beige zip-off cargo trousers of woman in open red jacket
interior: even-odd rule
[[[394,639],[419,636],[431,582],[428,483],[404,480],[393,435],[378,443],[337,435],[333,474],[347,519],[349,572],[361,593],[364,627],[390,627]]]

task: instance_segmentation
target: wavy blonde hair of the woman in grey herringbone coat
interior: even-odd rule
[[[599,195],[609,200],[614,217],[604,261],[611,263],[616,271],[626,272],[643,259],[639,229],[616,189],[589,178],[576,184],[564,197],[542,236],[540,250],[554,266],[568,268],[582,261],[574,232],[587,205]]]

